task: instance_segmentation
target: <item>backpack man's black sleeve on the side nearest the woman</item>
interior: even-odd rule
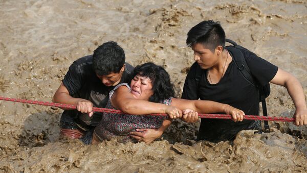
[[[198,100],[198,84],[195,80],[196,76],[196,62],[191,66],[188,75],[185,79],[183,92],[181,98],[188,99],[188,100]]]

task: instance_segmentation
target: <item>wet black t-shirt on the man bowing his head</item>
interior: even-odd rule
[[[108,101],[108,93],[115,86],[107,87],[96,76],[92,68],[93,56],[85,56],[74,61],[69,67],[67,74],[62,80],[64,86],[68,89],[71,96],[75,98],[84,98],[93,103],[94,107],[104,108]],[[125,70],[121,77],[120,83],[130,83],[133,78],[134,67],[125,63]],[[63,114],[68,114],[74,119],[81,115],[77,110],[65,110]],[[85,116],[88,117],[88,116]],[[100,113],[94,115],[85,122],[87,125],[95,126],[101,119]]]

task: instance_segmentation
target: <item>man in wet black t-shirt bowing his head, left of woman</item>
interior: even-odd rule
[[[53,102],[76,105],[77,110],[64,110],[61,135],[80,138],[100,121],[108,93],[120,83],[130,83],[134,67],[125,63],[124,50],[113,41],[100,45],[93,55],[82,57],[69,67],[53,96]]]

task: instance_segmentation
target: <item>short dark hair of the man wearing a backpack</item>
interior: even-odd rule
[[[217,46],[221,45],[223,48],[225,46],[225,31],[218,21],[202,21],[191,28],[187,35],[186,43],[189,47],[201,43],[211,52],[214,52]]]

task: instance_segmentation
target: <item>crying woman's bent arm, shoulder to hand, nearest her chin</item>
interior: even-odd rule
[[[176,107],[134,98],[129,89],[125,86],[121,86],[115,90],[113,96],[111,97],[111,104],[116,109],[119,109],[127,114],[144,115],[152,113],[166,113],[170,118],[182,116],[181,110]]]

